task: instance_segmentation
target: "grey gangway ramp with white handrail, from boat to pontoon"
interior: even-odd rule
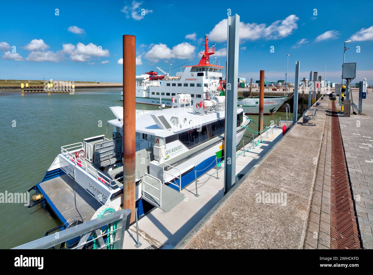
[[[159,179],[144,173],[141,182],[141,195],[145,201],[169,212],[184,200],[184,194],[163,184]]]

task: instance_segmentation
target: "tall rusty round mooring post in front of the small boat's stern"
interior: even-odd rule
[[[136,37],[123,35],[123,209],[135,221]]]

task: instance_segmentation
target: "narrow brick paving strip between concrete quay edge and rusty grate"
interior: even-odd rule
[[[329,100],[327,102],[329,109],[331,103]],[[326,105],[326,103],[323,103],[323,105]],[[327,115],[308,217],[305,249],[330,249],[331,130],[331,116]]]

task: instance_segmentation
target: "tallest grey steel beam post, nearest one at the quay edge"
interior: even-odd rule
[[[227,31],[227,81],[225,100],[225,169],[224,194],[236,183],[236,136],[237,136],[237,79],[239,47],[239,15],[228,16]]]

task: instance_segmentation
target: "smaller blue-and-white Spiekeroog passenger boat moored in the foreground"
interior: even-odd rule
[[[136,111],[136,207],[138,218],[158,207],[168,212],[184,199],[181,190],[223,158],[225,96],[191,105],[175,95],[173,108]],[[123,194],[123,107],[110,107],[112,136],[84,138],[61,147],[43,180],[32,186],[34,207],[56,216],[65,229],[97,217],[105,207],[120,209]],[[238,145],[250,119],[237,108]],[[73,247],[79,240],[66,243]]]

